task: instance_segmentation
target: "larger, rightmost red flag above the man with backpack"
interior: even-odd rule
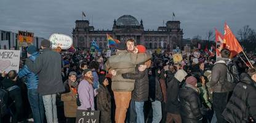
[[[242,47],[226,23],[224,26],[224,31],[225,33],[223,42],[226,44],[226,48],[231,51],[231,56],[234,57],[234,55],[242,52]]]

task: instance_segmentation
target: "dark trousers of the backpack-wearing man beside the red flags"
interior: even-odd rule
[[[212,106],[214,107],[215,115],[217,117],[217,122],[222,123],[225,122],[222,113],[226,108],[228,103],[228,92],[216,93],[212,94]]]

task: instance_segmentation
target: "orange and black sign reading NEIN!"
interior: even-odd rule
[[[18,41],[20,46],[26,47],[33,44],[34,33],[28,31],[18,31]]]

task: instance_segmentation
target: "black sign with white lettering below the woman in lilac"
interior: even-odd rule
[[[100,111],[86,111],[78,109],[76,111],[76,123],[98,123]]]

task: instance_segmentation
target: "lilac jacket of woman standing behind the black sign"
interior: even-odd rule
[[[92,109],[94,110],[94,88],[92,84],[89,84],[85,79],[82,80],[78,85],[78,95],[81,106],[78,109]]]

